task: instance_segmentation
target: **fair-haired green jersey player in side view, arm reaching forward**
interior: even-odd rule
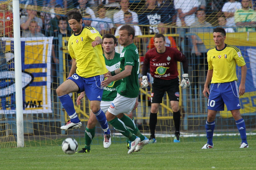
[[[115,72],[111,72],[112,76],[105,75],[107,79],[102,81],[102,85],[107,87],[111,82],[121,80],[120,85],[117,87],[117,97],[113,100],[106,112],[106,117],[107,121],[115,127],[117,131],[129,138],[131,142],[129,144],[130,149],[128,154],[131,154],[134,151],[141,150],[149,140],[141,135],[139,130],[133,132],[126,128],[126,122],[131,120],[129,120],[129,117],[122,114],[121,119],[117,118],[119,114],[129,114],[138,106],[138,102],[136,101],[139,95],[139,54],[137,47],[133,43],[135,30],[129,25],[124,25],[119,29],[119,35],[120,44],[124,46],[120,55],[121,72],[117,75],[115,75]]]

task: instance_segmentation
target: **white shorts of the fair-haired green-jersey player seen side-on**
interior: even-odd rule
[[[137,97],[129,98],[121,96],[117,93],[117,96],[111,103],[108,111],[115,116],[119,115],[120,113],[130,114],[135,106],[136,99]]]

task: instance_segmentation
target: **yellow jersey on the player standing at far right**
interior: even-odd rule
[[[209,49],[207,62],[208,69],[213,69],[211,83],[227,83],[237,80],[236,64],[240,67],[245,65],[241,51],[228,44],[225,44],[222,50],[218,50],[216,46]]]

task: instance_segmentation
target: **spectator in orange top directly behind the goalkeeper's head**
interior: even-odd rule
[[[163,34],[163,35],[165,35],[165,34],[167,34],[167,27],[165,26],[165,24],[164,23],[162,23],[162,22],[160,22],[159,24],[158,24],[158,27],[157,27],[157,29],[159,30],[159,33],[161,33],[161,34]],[[175,41],[175,39],[173,38],[173,37],[171,37],[171,36],[165,36],[165,46],[166,47],[174,47],[174,48],[177,48],[177,45],[176,45],[176,41]],[[151,37],[150,38],[150,42],[149,42],[149,44],[148,44],[148,49],[152,49],[152,48],[154,48],[155,47],[155,45],[154,45],[154,37]]]

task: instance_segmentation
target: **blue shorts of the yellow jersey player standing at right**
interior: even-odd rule
[[[241,108],[237,81],[211,84],[207,109],[222,111],[224,110],[224,103],[228,110]]]

